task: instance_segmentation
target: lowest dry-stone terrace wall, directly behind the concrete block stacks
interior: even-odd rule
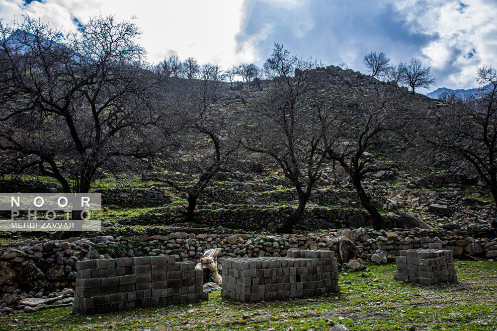
[[[497,259],[497,239],[470,237],[471,231],[402,230],[367,231],[342,230],[339,233],[308,233],[292,235],[252,234],[187,234],[164,236],[73,238],[67,241],[30,241],[10,243],[0,247],[0,294],[16,288],[35,289],[46,286],[74,287],[76,262],[87,259],[174,255],[177,261],[196,261],[204,251],[222,248],[222,256],[263,257],[286,256],[290,248],[330,250],[339,254],[339,239],[349,238],[358,247],[357,255],[369,260],[380,251],[398,255],[399,251],[427,248],[428,243],[440,242],[456,257],[472,254],[494,261]],[[47,283],[48,281],[48,283]],[[48,285],[47,285],[48,284]]]

